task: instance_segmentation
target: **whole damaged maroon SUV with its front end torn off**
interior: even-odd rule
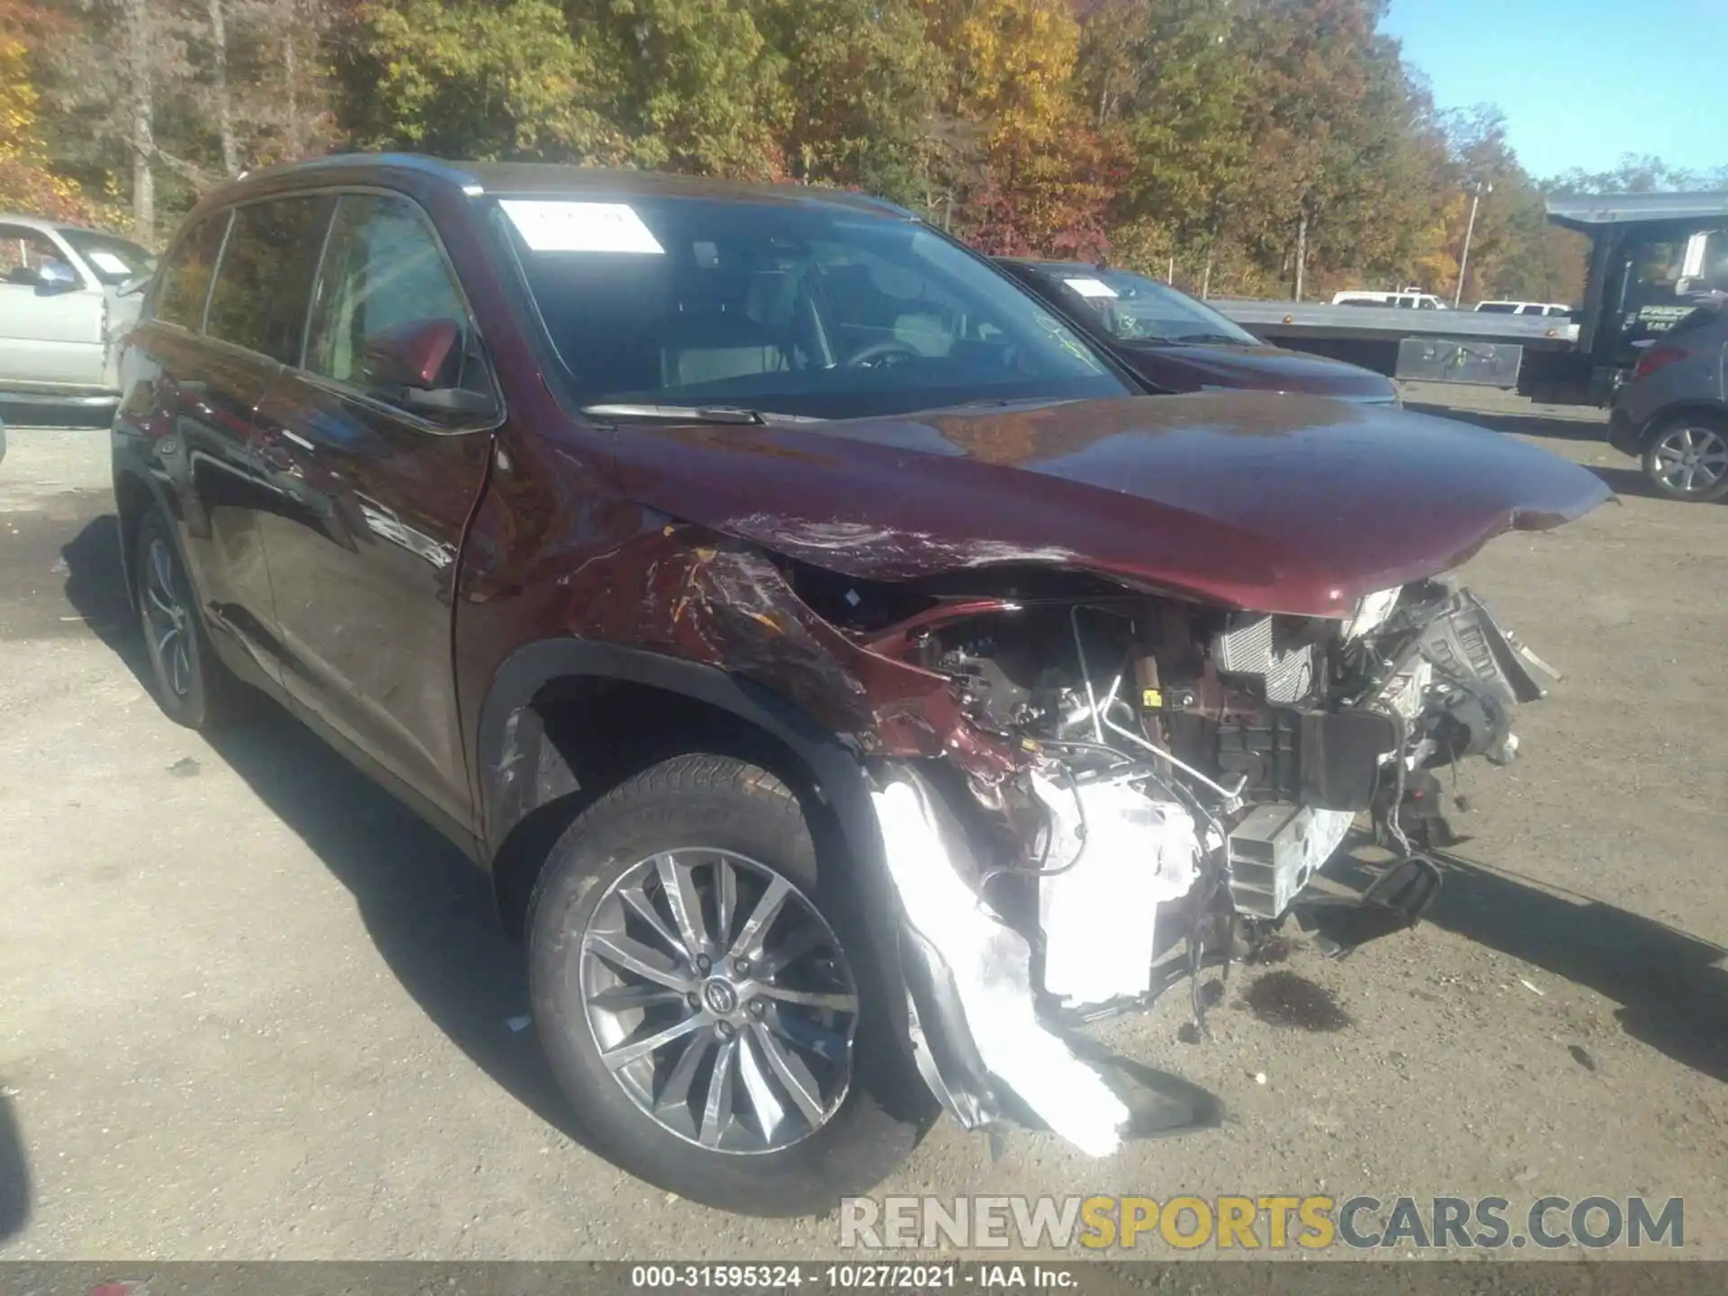
[[[168,714],[251,684],[413,805],[591,1146],[776,1215],[940,1109],[1213,1120],[1073,1026],[1415,921],[1431,771],[1548,674],[1445,574],[1607,496],[1396,410],[1134,396],[864,197],[370,156],[187,218],[114,491]],[[1398,862],[1320,899],[1358,816]]]

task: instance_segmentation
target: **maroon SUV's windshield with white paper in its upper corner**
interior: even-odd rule
[[[848,418],[1128,391],[1040,302],[911,219],[683,197],[496,211],[582,406]]]

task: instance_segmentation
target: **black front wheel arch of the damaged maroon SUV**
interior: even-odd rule
[[[544,639],[518,648],[494,674],[475,734],[482,852],[511,935],[570,819],[648,764],[693,750],[689,743],[760,760],[816,810],[812,833],[836,833],[831,845],[854,866],[880,859],[855,750],[783,695],[639,648]]]

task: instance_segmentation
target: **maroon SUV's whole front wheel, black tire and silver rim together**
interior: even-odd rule
[[[928,1128],[845,871],[793,791],[681,755],[588,809],[529,909],[534,1023],[594,1151],[681,1198],[802,1217]]]

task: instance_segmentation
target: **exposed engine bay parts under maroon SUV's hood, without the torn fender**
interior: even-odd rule
[[[1007,829],[980,885],[1004,916],[1016,883],[1037,885],[1044,988],[1075,1006],[1146,994],[1151,957],[1204,919],[1284,918],[1360,812],[1407,855],[1412,831],[1429,845],[1446,829],[1438,807],[1405,824],[1414,785],[1462,757],[1510,760],[1512,708],[1543,695],[1531,667],[1547,669],[1438,581],[1363,598],[1348,622],[1151,600],[1009,605],[921,631],[907,655],[1032,757],[1021,778],[973,786]],[[1161,904],[1191,911],[1115,987],[1080,975],[1087,959],[1068,949],[1096,947],[1096,918],[1061,918],[1102,869],[1120,871],[1123,895],[1147,871],[1166,892],[1187,883]]]

